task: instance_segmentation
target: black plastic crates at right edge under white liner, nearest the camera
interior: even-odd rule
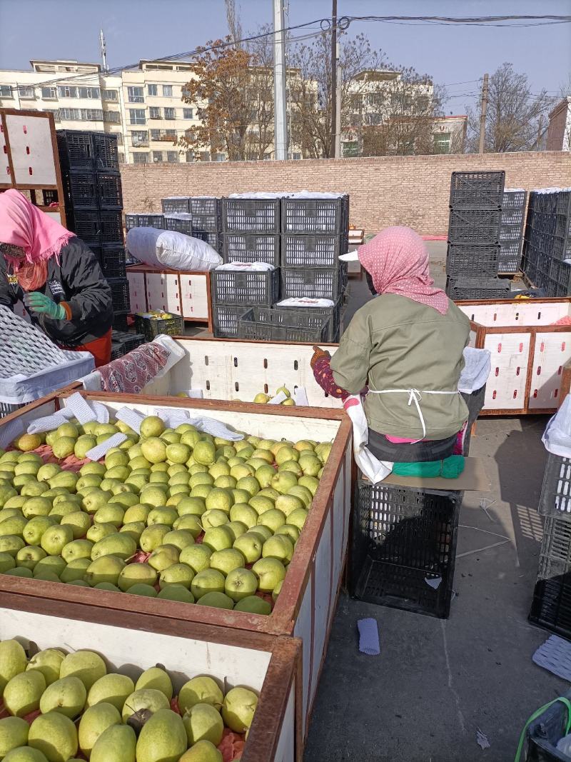
[[[545,523],[529,619],[571,639],[571,459],[547,456],[538,511]]]

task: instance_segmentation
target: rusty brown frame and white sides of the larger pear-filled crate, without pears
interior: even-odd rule
[[[343,410],[324,408],[283,408],[278,405],[106,392],[81,393],[86,399],[103,402],[112,412],[129,407],[151,415],[156,407],[185,408],[191,416],[217,418],[238,430],[260,437],[333,441],[308,520],[270,616],[0,575],[0,603],[4,594],[17,593],[20,594],[20,607],[25,610],[29,610],[30,606],[42,607],[47,601],[60,601],[64,607],[78,604],[82,618],[91,622],[104,622],[107,616],[123,613],[141,613],[165,617],[180,626],[182,623],[196,622],[241,632],[300,638],[303,643],[301,722],[305,735],[337,607],[347,548],[352,481],[352,427],[349,418]],[[18,418],[30,421],[40,415],[49,415],[59,405],[65,405],[67,396],[69,392],[54,396],[35,409],[30,405],[2,419],[0,437],[4,421],[17,421]]]

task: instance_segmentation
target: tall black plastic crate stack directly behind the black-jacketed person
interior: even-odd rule
[[[60,130],[57,141],[68,227],[97,257],[113,295],[113,327],[126,330],[129,284],[116,136]]]

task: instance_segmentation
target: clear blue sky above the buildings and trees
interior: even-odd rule
[[[331,14],[330,0],[286,0],[289,23]],[[239,0],[244,32],[271,21],[271,0]],[[338,0],[339,14],[571,14],[571,0]],[[31,58],[99,61],[104,27],[109,66],[193,50],[227,34],[224,0],[0,0],[0,69],[28,69]],[[391,62],[442,84],[477,80],[502,62],[525,72],[534,91],[553,92],[571,74],[571,24],[522,28],[402,25],[354,21]],[[301,34],[301,33],[292,33]],[[447,113],[464,113],[477,82],[448,87]]]

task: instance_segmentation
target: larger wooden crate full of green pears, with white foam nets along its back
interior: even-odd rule
[[[78,397],[109,422],[78,424]],[[56,411],[65,422],[27,433]],[[343,410],[65,392],[2,419],[0,445],[14,440],[0,456],[0,605],[297,637],[305,738],[349,530]]]

